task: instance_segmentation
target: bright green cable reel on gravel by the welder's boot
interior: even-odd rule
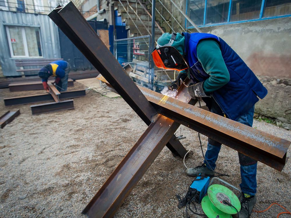
[[[232,214],[236,214],[241,209],[238,197],[223,185],[210,185],[207,194],[203,197],[201,206],[208,218],[231,218]],[[232,206],[223,203],[223,200],[228,201]]]

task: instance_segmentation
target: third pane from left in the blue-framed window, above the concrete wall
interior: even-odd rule
[[[230,21],[259,18],[262,0],[238,0],[231,6]]]

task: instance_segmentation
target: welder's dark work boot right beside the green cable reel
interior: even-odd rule
[[[239,216],[237,214],[233,215],[233,218],[248,218],[251,215],[251,212],[253,211],[253,207],[255,206],[255,203],[257,201],[257,197],[254,196],[249,196],[249,197],[245,197],[245,196],[249,196],[248,194],[243,194],[242,195],[242,199],[241,199],[241,205],[242,205],[242,209],[240,209],[239,211]]]

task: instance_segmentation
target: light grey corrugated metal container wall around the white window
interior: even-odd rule
[[[58,27],[47,15],[0,10],[0,64],[4,76],[21,75],[21,72],[16,72],[14,61],[20,58],[11,58],[10,55],[6,26],[39,27],[42,57],[61,58]],[[37,74],[37,72],[25,73],[25,75],[29,74]]]

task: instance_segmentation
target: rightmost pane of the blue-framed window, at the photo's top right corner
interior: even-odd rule
[[[266,0],[264,17],[291,14],[290,0]]]

